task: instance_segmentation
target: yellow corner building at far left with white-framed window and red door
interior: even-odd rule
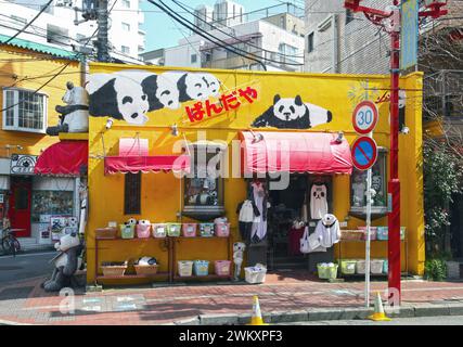
[[[5,42],[7,36],[0,35]],[[50,216],[75,216],[75,180],[34,175],[37,157],[57,138],[46,134],[59,123],[66,82],[80,81],[73,52],[13,39],[0,44],[0,205],[22,244],[51,244]],[[37,92],[36,92],[37,91]],[[3,216],[1,216],[3,217]]]

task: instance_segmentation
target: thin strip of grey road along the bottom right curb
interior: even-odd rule
[[[463,325],[463,316],[397,318],[390,322],[370,320],[297,322],[292,325]]]

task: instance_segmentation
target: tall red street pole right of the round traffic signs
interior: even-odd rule
[[[388,223],[388,290],[389,303],[400,305],[401,300],[401,266],[400,266],[400,181],[399,181],[399,79],[400,79],[400,3],[394,0],[394,9],[389,11],[363,7],[363,0],[345,0],[344,7],[353,12],[363,12],[365,17],[375,25],[382,26],[390,35],[390,156],[388,195],[391,209],[387,217]],[[417,1],[417,0],[402,0]],[[437,18],[447,14],[441,8],[447,0],[425,0],[426,11],[420,12],[421,17]],[[386,25],[386,21],[390,25]],[[417,33],[416,33],[417,34]],[[398,297],[394,297],[398,295]],[[397,299],[397,301],[395,300]]]

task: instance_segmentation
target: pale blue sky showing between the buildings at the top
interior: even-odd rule
[[[179,0],[191,8],[196,8],[200,4],[207,4],[214,7],[216,0]],[[164,1],[170,8],[178,10],[178,13],[187,16],[190,21],[193,20],[191,15],[178,8],[172,1]],[[268,8],[271,5],[280,4],[282,1],[278,0],[237,0],[235,1],[244,5],[246,12]],[[279,8],[280,9],[280,8]],[[284,9],[284,7],[281,7]],[[142,11],[144,12],[144,25],[142,30],[146,31],[146,47],[145,52],[159,48],[167,48],[177,46],[179,39],[183,38],[183,34],[189,36],[189,29],[182,28],[180,24],[172,22],[172,20],[165,13],[160,12],[158,8],[149,1],[142,2]],[[150,11],[150,12],[149,12]],[[153,11],[153,12],[151,12]],[[275,14],[275,12],[271,12]],[[177,26],[177,27],[176,27]]]

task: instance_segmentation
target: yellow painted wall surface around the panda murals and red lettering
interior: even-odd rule
[[[121,68],[140,68],[138,66],[92,64],[91,73],[114,73]],[[162,74],[173,70],[168,67],[144,67],[153,73]],[[184,69],[182,69],[184,70]],[[352,75],[309,75],[285,73],[257,73],[235,70],[209,70],[222,81],[222,90],[233,91],[237,88],[252,87],[258,90],[258,100],[253,104],[244,103],[236,112],[191,124],[184,111],[184,103],[179,110],[159,110],[149,114],[150,120],[144,126],[133,126],[124,120],[116,120],[113,128],[104,131],[106,118],[91,117],[89,133],[89,187],[90,215],[88,223],[88,282],[94,281],[94,229],[106,227],[108,221],[123,222],[132,216],[124,216],[124,176],[104,175],[102,155],[118,153],[119,138],[136,137],[150,140],[150,154],[171,154],[172,144],[184,134],[189,141],[196,141],[197,131],[207,131],[207,140],[224,140],[228,143],[237,139],[240,130],[249,129],[250,123],[261,115],[273,103],[273,97],[303,97],[305,102],[320,105],[333,113],[333,121],[310,130],[291,131],[330,131],[343,130],[351,143],[357,134],[351,126],[351,113],[355,105],[369,90],[369,98],[376,100],[389,88],[389,79],[385,76]],[[366,83],[368,81],[368,83]],[[421,88],[422,75],[413,74],[401,80],[401,87],[409,90]],[[411,132],[400,136],[400,179],[402,181],[401,224],[408,228],[409,269],[414,273],[423,273],[424,261],[424,226],[421,170],[421,98],[417,91],[408,92],[407,125]],[[389,146],[388,103],[381,103],[380,121],[374,134],[378,145]],[[179,126],[180,138],[173,138],[170,126]],[[267,130],[267,129],[259,129]],[[275,129],[273,129],[275,131]],[[282,131],[282,130],[279,130]],[[102,132],[104,134],[102,136]],[[104,139],[104,141],[103,141]],[[105,153],[103,151],[103,143]],[[226,215],[231,220],[233,241],[239,240],[236,205],[245,197],[243,179],[226,179],[224,201]],[[334,215],[343,221],[348,216],[350,184],[348,176],[334,179]],[[133,216],[150,219],[152,222],[177,221],[177,213],[181,210],[181,182],[172,174],[149,174],[142,178],[142,214]],[[185,220],[185,219],[183,219]],[[361,226],[359,219],[350,218],[348,228]],[[387,218],[374,221],[376,226],[386,226]],[[362,244],[343,246],[343,256],[363,257]],[[372,257],[387,257],[387,243],[373,246]],[[224,259],[226,243],[221,240],[189,241],[179,249],[178,259]],[[337,253],[336,253],[337,254]],[[166,253],[158,248],[156,240],[147,243],[111,242],[99,253],[100,260],[116,261],[152,255],[160,259],[162,270],[166,270]],[[403,258],[402,258],[403,259]]]

